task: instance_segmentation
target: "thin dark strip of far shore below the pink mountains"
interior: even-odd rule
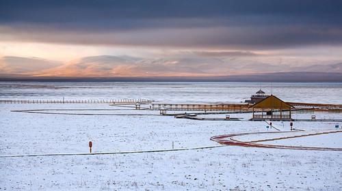
[[[0,74],[1,76],[1,74]],[[277,72],[233,76],[146,76],[146,77],[32,77],[3,76],[0,81],[36,82],[241,82],[241,83],[342,83],[341,73]]]

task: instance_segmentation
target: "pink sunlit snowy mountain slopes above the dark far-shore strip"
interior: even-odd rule
[[[141,76],[230,76],[274,72],[341,73],[342,63],[297,66],[263,63],[235,57],[174,57],[145,59],[129,56],[83,57],[68,63],[38,58],[3,57],[0,74],[11,76],[77,76],[77,77],[141,77]]]

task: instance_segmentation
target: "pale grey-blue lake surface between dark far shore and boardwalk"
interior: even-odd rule
[[[121,99],[241,102],[259,89],[289,102],[342,104],[342,83],[1,82],[0,99]]]

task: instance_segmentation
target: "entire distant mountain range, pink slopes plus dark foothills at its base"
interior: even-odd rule
[[[295,66],[253,59],[142,59],[109,55],[60,63],[39,58],[3,57],[0,80],[342,82],[342,63]]]

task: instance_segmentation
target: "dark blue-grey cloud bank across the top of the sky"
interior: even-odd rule
[[[0,1],[3,40],[267,48],[342,43],[342,1]],[[1,39],[1,37],[0,37]]]

